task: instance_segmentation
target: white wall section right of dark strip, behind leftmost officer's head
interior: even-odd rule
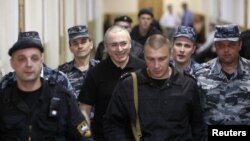
[[[59,64],[59,0],[25,0],[25,31],[38,31],[45,64]]]

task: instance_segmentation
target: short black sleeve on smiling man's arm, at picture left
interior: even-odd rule
[[[81,87],[78,101],[93,106],[96,100],[97,84],[92,69],[87,73],[86,79]]]

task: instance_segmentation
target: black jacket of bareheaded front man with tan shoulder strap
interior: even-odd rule
[[[204,122],[201,96],[196,81],[173,69],[160,87],[146,69],[137,72],[138,115],[143,141],[203,141]],[[114,90],[104,116],[109,141],[133,141],[131,121],[135,121],[132,77],[121,80]]]

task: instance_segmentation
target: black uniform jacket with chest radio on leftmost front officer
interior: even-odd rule
[[[0,92],[1,141],[82,139],[77,125],[85,119],[75,98],[55,82],[42,81],[42,93],[32,107],[17,93],[16,82]]]

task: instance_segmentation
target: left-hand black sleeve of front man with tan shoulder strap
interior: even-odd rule
[[[104,115],[104,135],[108,141],[133,140],[128,111],[131,100],[126,98],[128,89],[126,84],[118,83]]]

